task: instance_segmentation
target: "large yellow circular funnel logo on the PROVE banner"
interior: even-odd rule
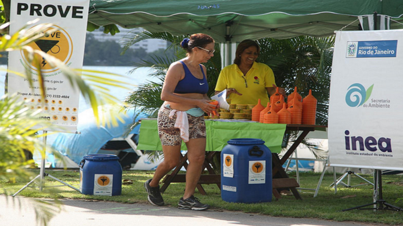
[[[53,31],[52,33],[46,33],[52,29],[57,29],[57,31]],[[70,35],[61,27],[53,25],[49,27],[45,31],[44,37],[33,41],[32,43],[28,44],[34,50],[42,50],[43,52],[54,56],[67,64],[73,54],[73,41],[71,40]],[[25,64],[27,64],[31,69],[37,71],[34,62],[29,62],[28,59],[28,52],[26,50],[21,51],[21,55]],[[52,66],[47,62],[45,58],[39,56],[39,54],[35,54],[35,58],[39,61],[40,69],[42,73],[50,73],[58,70],[59,68],[56,66]]]

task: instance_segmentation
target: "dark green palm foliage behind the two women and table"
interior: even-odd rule
[[[136,108],[140,112],[147,113],[150,118],[156,118],[158,108],[162,105],[160,93],[164,76],[170,63],[185,56],[185,51],[179,48],[179,44],[185,36],[174,36],[167,32],[152,33],[149,31],[134,31],[124,39],[125,48],[145,39],[163,39],[169,41],[168,48],[174,48],[176,54],[162,57],[154,57],[152,60],[135,64],[136,67],[150,67],[154,70],[149,76],[157,77],[160,82],[149,82],[137,87],[129,93],[125,102],[127,108]],[[288,94],[291,94],[294,87],[305,97],[309,89],[318,100],[316,124],[327,124],[328,99],[330,87],[330,72],[332,64],[332,47],[334,36],[330,37],[295,37],[291,39],[263,38],[257,40],[260,44],[260,56],[258,62],[270,66],[276,77],[276,84],[285,87]],[[208,74],[209,95],[214,93],[214,88],[221,70],[221,57],[219,45],[216,45],[216,52],[209,62],[205,64]],[[132,70],[135,72],[135,69]],[[135,126],[137,124],[133,124]],[[285,147],[288,141],[295,139],[296,133],[285,136]],[[310,146],[310,143],[304,141]],[[313,145],[311,145],[313,147]],[[323,151],[312,149],[314,154],[323,158]]]

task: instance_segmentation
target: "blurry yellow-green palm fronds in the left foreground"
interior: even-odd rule
[[[8,23],[0,26],[0,32],[8,27]],[[73,70],[64,65],[60,60],[54,58],[42,51],[33,50],[27,45],[32,41],[48,35],[48,30],[52,24],[41,24],[33,27],[32,29],[25,29],[27,26],[21,28],[15,34],[4,34],[0,37],[0,52],[3,51],[27,51],[29,54],[28,59],[32,60],[34,65],[37,65],[38,76],[35,77],[39,80],[41,95],[46,95],[46,84],[43,82],[44,77],[41,73],[40,61],[38,59],[45,58],[52,66],[57,66],[63,71],[63,75],[67,77],[70,85],[78,87],[84,98],[91,104],[95,117],[98,123],[104,121],[98,118],[98,106],[103,104],[116,104],[118,99],[109,94],[108,89],[100,84],[114,85],[118,87],[126,87],[125,83],[120,82],[121,79],[111,79],[110,73],[102,73],[90,70]],[[39,56],[36,57],[36,56]],[[17,73],[8,70],[8,73],[25,77],[28,81],[32,82],[33,75],[30,71],[25,74]],[[115,75],[118,76],[118,75]],[[85,78],[85,81],[83,80]],[[129,84],[127,84],[129,85]],[[34,151],[40,151],[42,156],[44,153],[44,144],[40,140],[41,134],[38,131],[58,131],[57,127],[44,120],[39,120],[38,114],[40,110],[31,110],[26,107],[24,101],[14,96],[13,94],[4,95],[0,97],[0,143],[2,144],[2,151],[0,151],[0,181],[1,182],[16,182],[16,181],[29,181],[33,175],[27,169],[31,168],[34,164],[32,160],[27,160],[26,154],[32,154]],[[43,108],[42,108],[43,109]],[[108,115],[108,114],[103,114]],[[112,124],[117,124],[119,118],[115,119]],[[49,148],[47,148],[49,149]],[[1,184],[0,184],[1,186]],[[7,194],[7,191],[3,189]],[[54,195],[56,198],[56,196]],[[55,208],[55,205],[46,203],[44,201],[37,202],[37,220],[43,225],[46,225],[50,218],[55,214],[60,207]]]

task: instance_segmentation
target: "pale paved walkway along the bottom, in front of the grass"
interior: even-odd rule
[[[193,211],[149,204],[62,200],[63,210],[49,226],[374,226],[306,218],[281,218],[232,211]],[[24,197],[0,195],[1,226],[35,226],[35,206]]]

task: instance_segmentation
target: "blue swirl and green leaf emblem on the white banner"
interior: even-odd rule
[[[346,104],[350,107],[359,107],[363,105],[371,96],[372,84],[367,90],[360,83],[354,83],[350,85],[346,93]]]

